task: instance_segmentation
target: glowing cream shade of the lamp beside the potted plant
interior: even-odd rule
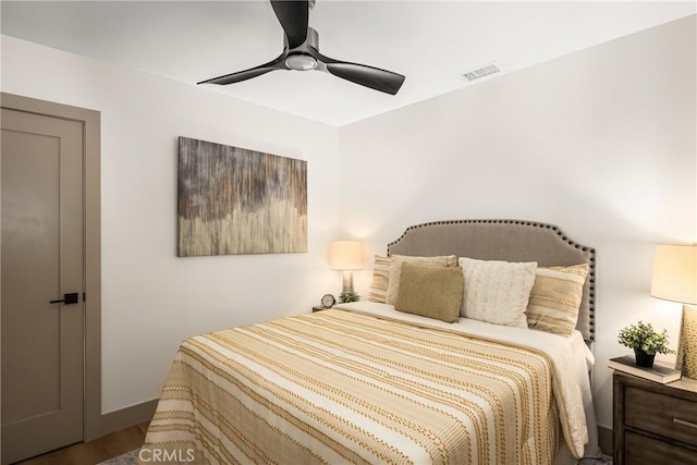
[[[657,245],[651,295],[697,304],[697,245]]]

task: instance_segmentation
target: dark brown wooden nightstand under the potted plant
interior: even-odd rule
[[[697,381],[615,371],[612,384],[615,465],[697,465]]]

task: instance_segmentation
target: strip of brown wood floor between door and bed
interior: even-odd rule
[[[59,449],[21,465],[96,465],[143,445],[148,424],[144,423],[122,431],[107,435],[90,442],[80,442]]]

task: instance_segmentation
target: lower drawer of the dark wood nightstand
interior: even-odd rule
[[[697,452],[627,431],[624,436],[624,463],[626,465],[697,465]]]

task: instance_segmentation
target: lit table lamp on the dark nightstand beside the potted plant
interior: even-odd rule
[[[675,368],[697,379],[697,244],[656,246],[651,295],[683,304]]]

